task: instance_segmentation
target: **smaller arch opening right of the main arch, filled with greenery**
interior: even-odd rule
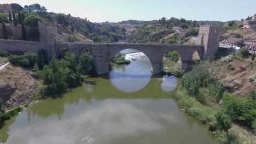
[[[165,53],[162,61],[164,62],[164,71],[181,70],[182,57],[181,53],[176,50],[168,51]]]

